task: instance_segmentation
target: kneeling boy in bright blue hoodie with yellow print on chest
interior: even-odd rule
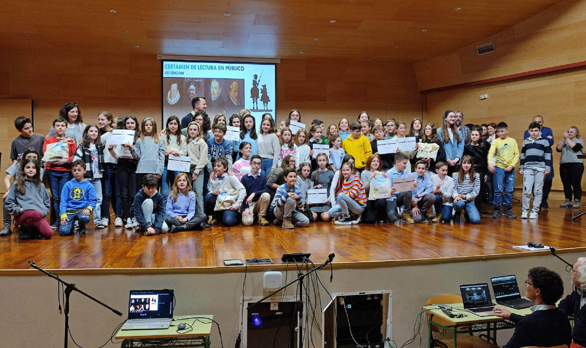
[[[86,224],[90,222],[91,212],[98,202],[96,189],[89,180],[83,178],[86,173],[86,163],[78,159],[71,163],[73,179],[69,180],[61,192],[59,212],[61,222],[60,236],[70,236],[73,230],[73,221],[79,220],[79,233],[86,234]]]

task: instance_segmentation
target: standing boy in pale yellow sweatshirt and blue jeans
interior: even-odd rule
[[[513,206],[513,188],[515,187],[515,165],[519,161],[519,147],[513,138],[509,138],[509,126],[500,122],[496,126],[496,138],[488,151],[488,170],[494,175],[495,185],[495,211],[492,217],[500,217],[500,206],[502,203],[503,216],[515,219],[517,216],[511,210]],[[495,164],[493,164],[495,163]],[[505,199],[503,200],[503,191]]]

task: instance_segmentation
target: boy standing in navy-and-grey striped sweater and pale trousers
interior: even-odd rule
[[[537,219],[541,205],[544,178],[551,172],[551,147],[546,139],[541,138],[541,127],[536,122],[529,125],[529,138],[521,146],[521,165],[519,173],[523,175],[523,211],[521,219]],[[529,200],[533,191],[533,209],[529,213]]]

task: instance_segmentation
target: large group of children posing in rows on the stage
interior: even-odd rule
[[[481,192],[489,190],[486,183],[494,187],[492,217],[500,216],[501,206],[504,216],[516,217],[511,207],[519,159],[524,176],[522,218],[537,219],[543,180],[552,168],[551,147],[540,137],[540,125],[529,125],[530,137],[519,152],[504,122],[488,125],[487,132],[481,126],[465,132],[466,126],[455,122],[456,114],[447,110],[440,128],[432,123],[423,127],[415,118],[407,134],[401,121],[383,125],[360,112],[357,121],[340,120],[323,135],[320,120],[314,120],[309,131],[301,128],[293,134],[289,125],[291,120],[301,121],[298,110],[289,112],[278,130],[270,114],[263,115],[257,130],[246,109],[228,122],[217,114],[211,125],[205,111],[198,111],[188,127],[181,129],[179,118],[171,116],[159,132],[153,118],[139,124],[134,115],[114,119],[105,111],[97,124],[86,126],[79,105],[67,103],[47,138],[32,131],[29,118],[16,119],[21,135],[12,144],[14,164],[5,179],[8,192],[0,235],[11,233],[11,215],[22,239],[50,238],[57,229],[62,236],[76,228],[83,234],[92,216],[97,228],[110,224],[110,206],[115,226],[148,236],[219,223],[234,226],[239,220],[244,226],[257,221],[284,228],[308,226],[319,219],[340,225],[361,220],[394,223],[399,217],[409,224],[452,219],[458,223],[462,211],[466,221],[478,224],[485,212]],[[224,139],[227,125],[241,129],[239,141]],[[132,141],[114,145],[113,128],[134,131]],[[377,151],[377,141],[403,137],[437,144],[437,156]],[[315,145],[329,148],[314,151]],[[189,156],[189,172],[168,169],[171,156]],[[45,220],[51,206],[43,175],[53,200],[50,226]],[[389,180],[391,195],[369,200],[377,176]],[[393,180],[411,177],[413,189],[398,192]],[[328,199],[310,203],[309,189],[325,189]]]

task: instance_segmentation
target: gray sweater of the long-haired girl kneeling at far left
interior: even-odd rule
[[[29,179],[25,179],[25,185],[24,195],[21,195],[19,190],[16,189],[16,183],[13,183],[10,187],[10,191],[4,202],[8,213],[13,216],[18,216],[21,214],[21,209],[23,209],[23,212],[26,210],[36,210],[40,211],[43,216],[47,216],[49,214],[50,201],[45,185],[40,183],[37,186]]]

